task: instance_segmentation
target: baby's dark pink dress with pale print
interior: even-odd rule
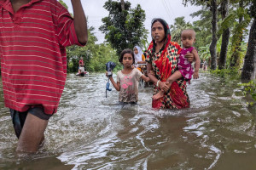
[[[194,70],[191,63],[184,56],[188,52],[192,53],[193,49],[195,48],[194,47],[183,48],[180,52],[178,63],[177,63],[178,71],[180,71],[183,77],[188,80],[192,78],[192,75],[194,74]]]

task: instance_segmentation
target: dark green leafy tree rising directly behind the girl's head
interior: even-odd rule
[[[117,54],[125,48],[143,45],[148,31],[143,26],[145,12],[139,4],[136,8],[131,8],[128,1],[119,3],[108,0],[103,7],[108,10],[109,15],[102,18],[103,25],[99,30],[105,34],[107,42],[116,49]]]

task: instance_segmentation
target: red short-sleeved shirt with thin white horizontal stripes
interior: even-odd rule
[[[14,13],[10,0],[0,0],[0,44],[5,106],[40,105],[54,114],[67,77],[65,47],[82,45],[67,9],[56,0],[32,0]]]

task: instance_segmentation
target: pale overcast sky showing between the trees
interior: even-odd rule
[[[108,16],[108,11],[103,8],[104,3],[107,0],[81,0],[84,13],[88,17],[89,26],[96,28],[95,35],[98,38],[97,43],[104,41],[104,35],[98,30],[99,26],[102,26],[102,18]],[[73,8],[70,0],[63,0],[67,4],[68,10],[73,13]],[[192,19],[189,14],[194,13],[201,9],[201,7],[191,6],[184,7],[182,0],[129,0],[131,8],[134,8],[138,3],[141,4],[143,10],[146,13],[146,20],[144,26],[148,31],[150,30],[151,20],[154,18],[162,18],[166,20],[169,25],[174,23],[174,19],[184,16],[188,22],[198,20]],[[151,36],[148,35],[148,41],[151,40]]]

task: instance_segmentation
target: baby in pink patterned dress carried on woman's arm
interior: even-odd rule
[[[200,69],[200,59],[197,54],[197,51],[193,46],[193,43],[195,42],[195,31],[192,29],[187,29],[182,31],[181,34],[181,41],[183,43],[183,48],[180,52],[179,59],[177,62],[177,68],[178,70],[175,71],[171,77],[167,79],[166,82],[169,82],[169,86],[171,87],[172,82],[177,81],[177,79],[184,77],[187,82],[190,83],[190,80],[193,76],[194,79],[199,78],[198,71]],[[191,63],[186,59],[184,56],[185,54],[194,54],[195,57],[195,71],[193,70],[193,66]],[[155,94],[152,98],[153,99],[159,99],[163,97],[165,92],[161,90],[158,94]]]

